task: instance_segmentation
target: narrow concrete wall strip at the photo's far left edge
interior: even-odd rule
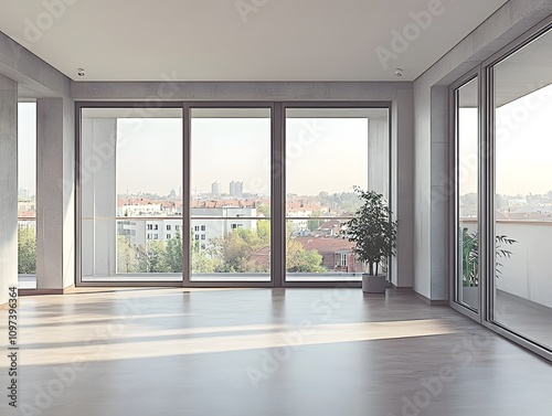
[[[0,305],[18,286],[18,84],[0,75]]]

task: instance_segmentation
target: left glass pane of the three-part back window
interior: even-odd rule
[[[181,109],[82,111],[84,281],[182,280]]]

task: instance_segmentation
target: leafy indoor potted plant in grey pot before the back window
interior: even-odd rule
[[[395,254],[397,222],[391,220],[391,209],[382,194],[359,186],[354,191],[362,205],[344,223],[343,237],[357,243],[354,254],[368,271],[362,274],[362,291],[384,294],[386,275],[380,273],[380,265]]]

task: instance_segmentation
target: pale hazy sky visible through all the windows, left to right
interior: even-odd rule
[[[546,88],[552,89],[552,86]],[[544,97],[550,94],[544,95]],[[542,97],[542,96],[541,96]],[[552,190],[552,103],[522,97],[497,110],[497,192]],[[477,115],[461,109],[460,193],[476,191]],[[138,127],[137,127],[138,126]],[[267,118],[192,120],[192,192],[221,183],[244,182],[245,192],[269,194]],[[19,188],[35,193],[35,105],[19,105]],[[182,184],[182,121],[177,118],[119,119],[117,191],[179,192]],[[287,121],[287,192],[318,194],[367,185],[368,124],[362,118]]]

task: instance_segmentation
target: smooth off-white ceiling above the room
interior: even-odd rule
[[[506,1],[0,0],[0,31],[74,81],[414,81]]]

